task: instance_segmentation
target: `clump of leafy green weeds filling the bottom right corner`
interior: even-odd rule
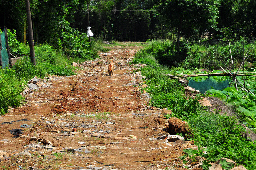
[[[232,159],[247,169],[255,169],[256,145],[241,136],[244,131],[235,119],[225,115],[204,113],[199,116],[190,117],[187,120],[194,127],[194,138],[196,145],[207,146],[203,155],[212,162],[222,157]],[[224,165],[225,166],[225,165]]]

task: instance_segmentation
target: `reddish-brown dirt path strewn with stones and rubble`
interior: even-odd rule
[[[142,76],[129,65],[142,47],[110,48],[77,75],[46,77],[0,117],[0,169],[186,169],[178,157],[196,146],[165,140],[168,120],[146,107]]]

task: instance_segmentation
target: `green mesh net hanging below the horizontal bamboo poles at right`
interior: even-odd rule
[[[216,89],[216,90],[223,90],[229,86],[229,83],[230,83],[230,79],[225,81],[215,81],[210,77],[208,77],[206,80],[201,82],[197,82],[191,79],[188,81],[188,85],[190,87],[196,90],[199,90],[200,93],[202,94],[204,94],[207,90],[211,89],[211,87],[213,87],[213,89]]]

